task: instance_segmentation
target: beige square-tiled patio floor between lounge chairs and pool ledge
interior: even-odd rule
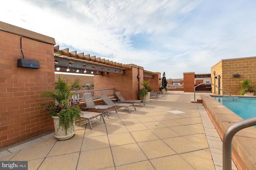
[[[26,160],[28,170],[222,170],[222,141],[193,99],[194,93],[169,91],[131,114],[110,111],[106,124],[92,123],[92,130],[82,124],[66,141],[51,133],[2,150],[0,160]]]

